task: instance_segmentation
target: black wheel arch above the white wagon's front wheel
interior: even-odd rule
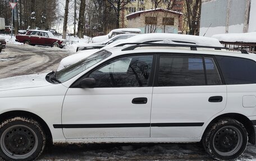
[[[49,129],[47,123],[38,115],[28,112],[28,111],[8,111],[5,113],[0,114],[0,122],[3,122],[6,119],[13,118],[13,117],[27,117],[27,118],[33,118],[35,121],[38,121],[38,123],[42,126],[47,144],[53,144],[52,141],[52,132]]]

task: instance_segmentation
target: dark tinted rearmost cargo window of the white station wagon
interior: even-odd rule
[[[227,85],[255,84],[256,62],[246,58],[216,56]]]

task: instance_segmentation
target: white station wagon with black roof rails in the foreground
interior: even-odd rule
[[[202,141],[218,160],[255,144],[256,55],[243,50],[135,44],[0,85],[4,160],[33,160],[46,142]]]

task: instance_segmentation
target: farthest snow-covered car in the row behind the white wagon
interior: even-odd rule
[[[106,41],[107,39],[113,38],[116,35],[128,34],[128,33],[140,34],[141,30],[135,29],[135,28],[114,29],[114,30],[111,30],[107,35],[93,37],[92,43],[101,43]]]

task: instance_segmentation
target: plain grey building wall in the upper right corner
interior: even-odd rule
[[[256,31],[255,0],[203,0],[200,35]]]

